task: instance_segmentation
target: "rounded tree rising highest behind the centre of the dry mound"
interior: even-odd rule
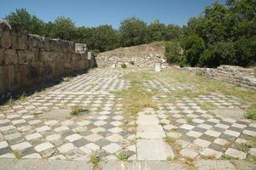
[[[143,20],[129,18],[123,20],[119,27],[120,42],[124,47],[148,42],[148,26]]]

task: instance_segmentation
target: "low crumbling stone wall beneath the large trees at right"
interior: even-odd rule
[[[256,73],[254,69],[240,66],[220,65],[217,69],[186,67],[183,70],[196,71],[197,74],[212,78],[222,78],[227,82],[239,85],[244,88],[256,90]]]

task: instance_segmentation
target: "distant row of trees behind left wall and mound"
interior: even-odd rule
[[[181,37],[183,30],[181,27],[172,24],[166,26],[160,23],[159,20],[154,20],[147,25],[143,20],[134,17],[123,20],[119,29],[113,29],[109,25],[76,27],[73,20],[63,16],[54,21],[44,22],[36,15],[29,14],[26,8],[16,9],[5,19],[20,23],[28,33],[85,43],[90,50],[99,52],[122,46],[172,40]]]

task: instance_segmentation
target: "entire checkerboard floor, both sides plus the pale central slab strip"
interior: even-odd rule
[[[160,90],[154,96],[160,110],[149,108],[138,113],[137,122],[130,123],[137,123],[137,133],[133,133],[132,126],[124,125],[120,99],[110,93],[130,86],[122,78],[129,71],[96,69],[15,101],[14,105],[0,106],[0,158],[15,158],[18,152],[21,158],[89,161],[90,155],[97,152],[105,160],[116,160],[119,152],[125,151],[129,160],[165,160],[174,157],[172,148],[163,140],[166,136],[177,139],[182,145],[179,154],[184,157],[256,156],[256,146],[250,150],[243,146],[255,138],[255,122],[213,116],[199,105],[211,101],[220,108],[244,109],[238,99],[212,94],[162,100],[175,98],[166,92],[193,90],[196,84],[158,79],[144,82],[146,88]],[[76,105],[88,108],[90,114],[67,119],[44,116]],[[148,156],[145,146],[154,148],[157,156]]]

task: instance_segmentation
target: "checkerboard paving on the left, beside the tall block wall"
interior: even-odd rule
[[[14,105],[0,107],[0,157],[49,158],[84,161],[97,152],[104,159],[117,159],[119,151],[137,159],[135,134],[123,126],[119,99],[110,93],[127,88],[125,70],[96,69],[69,82],[61,82]],[[89,115],[68,119],[45,118],[44,114],[82,105]],[[43,113],[43,114],[41,114]]]

